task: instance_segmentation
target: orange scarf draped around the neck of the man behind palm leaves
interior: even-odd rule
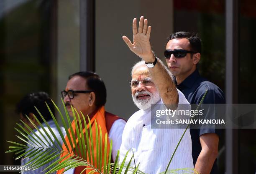
[[[87,153],[87,162],[89,162],[90,164],[93,164],[95,167],[97,166],[97,164],[96,164],[96,163],[97,163],[97,159],[96,159],[96,130],[95,130],[95,120],[96,120],[96,121],[97,121],[97,126],[98,126],[98,138],[100,138],[100,130],[99,130],[99,127],[101,128],[101,132],[102,132],[102,166],[101,166],[101,167],[103,167],[103,165],[104,165],[105,134],[106,134],[106,133],[108,134],[107,128],[106,128],[105,108],[104,108],[104,106],[102,106],[102,107],[97,111],[97,113],[92,117],[92,119],[90,119],[90,120],[91,120],[91,124],[92,124],[92,137],[90,137],[89,124],[87,124],[87,129],[85,129],[85,128],[83,129],[83,136],[84,136],[84,140],[86,141],[85,131],[88,130],[90,149],[92,149],[92,147],[91,147],[91,139],[93,139],[93,149],[92,149],[92,150],[94,150],[94,163],[92,162],[92,160],[88,160],[88,159],[89,159],[88,153]],[[74,122],[74,120],[73,120],[73,122],[72,122],[71,125],[72,125],[72,129],[73,129],[73,131],[74,131],[74,134],[76,134],[76,128],[75,128],[75,122]],[[72,137],[70,128],[69,128],[68,131],[69,131],[70,137]],[[80,134],[80,136],[81,136],[81,134]],[[67,137],[67,135],[66,135],[66,136],[65,136],[65,140],[66,140],[66,142],[67,142],[69,152],[72,153],[72,154],[75,154],[75,153],[72,151],[72,147],[71,147],[71,144],[72,144],[72,146],[75,148],[75,144],[74,144],[74,142],[73,142],[73,139],[71,138],[72,143],[69,143],[69,139],[68,139],[68,137]],[[78,144],[78,139],[76,139],[76,143]],[[108,139],[108,142],[107,142],[107,143],[108,143],[108,144],[107,144],[107,146],[108,146],[108,148],[107,148],[107,162],[108,162],[109,146],[110,146],[109,139]],[[85,144],[86,144],[86,142],[85,142]],[[99,144],[100,144],[100,142],[99,142]],[[68,153],[67,153],[68,150],[67,150],[67,147],[65,146],[65,144],[62,144],[62,149],[63,149],[65,152],[63,152],[60,157],[64,157],[65,155],[68,154]],[[79,149],[81,149],[81,148],[79,148]],[[75,151],[79,153],[79,152],[80,152],[79,149],[75,149]],[[65,159],[67,159],[68,157],[71,157],[72,154],[69,154]],[[79,153],[79,154],[80,154],[80,153]],[[111,155],[111,154],[110,154],[110,155]],[[65,159],[61,160],[61,162],[63,162]],[[92,159],[92,152],[91,152],[91,157],[90,157],[90,159]],[[61,162],[60,162],[60,163],[61,163]],[[76,167],[76,168],[75,168],[75,172],[76,172],[76,170],[79,170],[79,171],[81,172],[84,168],[86,168],[86,166]],[[89,167],[89,168],[91,168],[91,167]],[[57,174],[62,174],[63,171],[64,171],[64,168],[61,169],[61,170],[58,170],[58,171],[57,171]],[[85,170],[85,171],[83,172],[83,174],[88,174],[90,171],[91,171],[91,169],[87,169],[87,170]],[[77,171],[77,172],[78,172],[78,171]],[[76,173],[77,173],[77,172],[76,172]],[[78,173],[80,173],[80,172],[78,172]]]

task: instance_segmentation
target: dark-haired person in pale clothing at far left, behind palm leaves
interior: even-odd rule
[[[62,144],[63,141],[61,139],[61,136],[59,135],[56,125],[54,124],[54,121],[51,117],[51,113],[49,112],[49,109],[47,108],[46,103],[48,104],[49,108],[51,109],[51,112],[54,114],[55,113],[54,104],[51,102],[49,95],[46,92],[32,92],[32,93],[26,94],[26,96],[20,100],[20,102],[16,106],[16,112],[20,115],[20,125],[22,125],[26,129],[26,132],[29,133],[30,139],[32,139],[33,141],[36,141],[36,142],[40,142],[40,144],[42,144],[43,147],[53,147],[54,149],[57,147],[58,149],[60,149],[59,144],[56,142],[56,140],[54,139],[54,137],[51,134],[50,134],[50,137],[54,143],[50,141],[50,139],[46,136],[46,134],[44,134],[44,136],[42,136],[42,134],[40,132],[44,133],[44,130],[42,127],[40,127],[39,123],[36,121],[36,119],[34,117],[34,115],[35,115],[36,118],[39,120],[39,122],[43,125],[44,129],[46,131],[49,131],[48,127],[44,123],[44,120],[38,114],[38,112],[36,110],[36,108],[37,108],[39,110],[39,112],[42,114],[42,116],[44,117],[44,119],[46,120],[46,122],[51,127],[51,130],[56,135],[58,141]],[[28,118],[31,119],[31,122],[33,122],[33,124],[35,124],[36,127],[38,127],[39,131],[33,126],[33,124],[28,120],[28,118],[26,116],[28,116]],[[24,123],[27,124],[28,127],[25,126]],[[66,134],[65,129],[63,127],[61,127],[61,131],[64,135]],[[35,134],[38,137],[40,137],[40,139],[42,139],[44,141],[43,142],[40,141],[38,139],[38,137],[35,136]],[[49,142],[49,144],[46,142]],[[31,146],[30,144],[33,144],[33,142],[31,142],[31,141],[28,141],[28,143],[29,143],[28,144],[29,146]],[[28,151],[28,150],[30,150],[30,148],[28,148],[26,151]],[[42,148],[41,150],[44,151],[44,150],[46,150],[46,148]],[[27,164],[32,159],[31,158],[23,158],[21,160],[21,165],[23,166],[24,164]],[[43,166],[39,167],[38,169],[29,170],[27,172],[22,172],[22,173],[23,174],[39,174],[44,169],[46,169],[46,167],[49,167],[51,164],[53,164],[58,159],[59,159],[59,157],[56,159],[53,159],[51,162],[49,162],[47,164],[44,164]],[[45,172],[48,172],[52,168],[53,167],[46,169]]]

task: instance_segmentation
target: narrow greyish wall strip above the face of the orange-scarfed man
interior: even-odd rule
[[[80,70],[79,0],[59,0],[57,14],[56,101],[63,111],[61,91],[68,76]]]

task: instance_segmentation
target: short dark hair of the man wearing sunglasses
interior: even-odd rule
[[[186,38],[189,40],[191,51],[201,53],[201,40],[196,33],[179,31],[174,32],[169,36],[169,40]]]

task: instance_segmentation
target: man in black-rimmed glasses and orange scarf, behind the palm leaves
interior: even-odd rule
[[[67,82],[66,89],[61,92],[61,95],[64,99],[67,111],[69,115],[74,117],[71,106],[77,110],[78,113],[82,112],[82,114],[87,118],[90,118],[90,122],[92,124],[92,137],[90,139],[94,139],[95,142],[95,120],[97,121],[97,125],[101,127],[102,130],[102,142],[105,142],[105,133],[108,133],[108,146],[110,144],[110,139],[113,141],[112,146],[112,160],[115,161],[116,154],[118,149],[120,148],[120,144],[122,142],[122,134],[123,129],[125,127],[125,120],[120,117],[111,114],[105,111],[104,105],[106,103],[106,87],[102,79],[99,75],[94,72],[77,72],[73,75],[69,76],[69,80]],[[82,115],[80,114],[81,120],[83,122]],[[77,118],[78,120],[78,118]],[[88,123],[88,120],[87,120]],[[88,124],[87,124],[88,125]],[[74,121],[72,122],[72,127],[74,132],[75,126]],[[83,129],[85,129],[83,127]],[[86,131],[86,130],[84,130]],[[85,136],[85,134],[84,134]],[[89,135],[90,136],[90,135]],[[67,136],[66,136],[67,139]],[[70,144],[75,148],[75,144]],[[62,146],[64,149],[67,149],[65,145]],[[103,146],[104,147],[104,146]],[[91,147],[92,149],[95,147]],[[69,148],[71,150],[71,148]],[[104,149],[102,149],[104,152]],[[76,152],[71,152],[75,154],[79,154],[79,149],[75,149]],[[94,149],[96,152],[96,149]],[[107,155],[111,155],[107,154]],[[66,155],[63,153],[61,156]],[[104,155],[104,154],[102,154]],[[95,155],[96,157],[96,155]],[[87,157],[89,159],[89,157]],[[107,158],[108,159],[108,158]],[[89,160],[92,163],[92,161]],[[96,162],[96,158],[95,158]],[[77,174],[84,170],[84,166],[76,167],[75,169],[70,169],[67,171],[69,174]],[[59,170],[58,174],[63,172],[63,170]],[[88,173],[90,170],[86,170],[84,173]],[[66,172],[65,172],[66,173]]]

